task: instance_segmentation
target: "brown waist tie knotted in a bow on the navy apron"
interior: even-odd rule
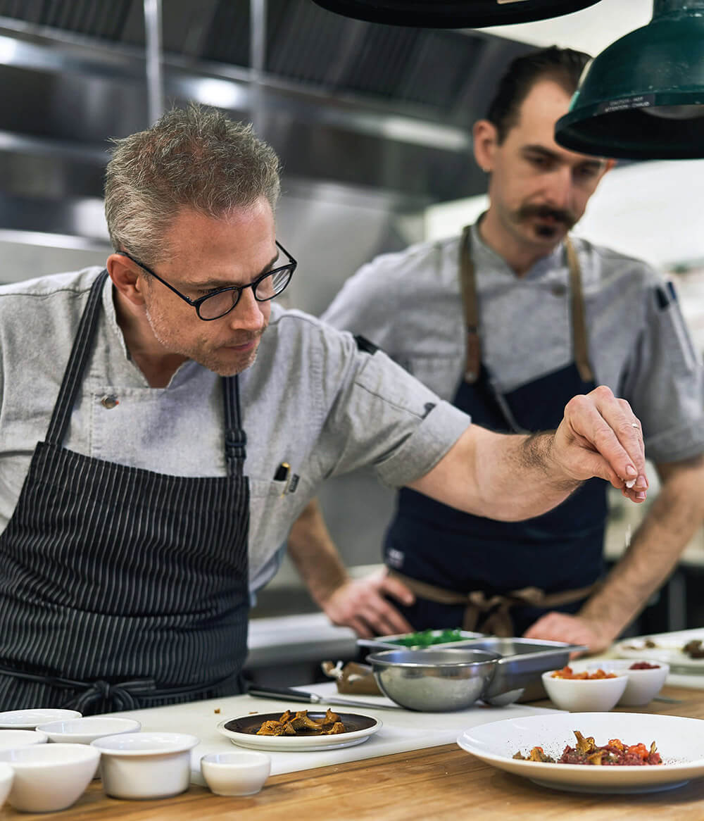
[[[388,569],[388,574],[403,582],[420,599],[437,604],[464,604],[463,630],[476,631],[482,615],[487,614],[482,621],[482,632],[500,636],[515,635],[510,608],[521,604],[537,608],[557,608],[586,599],[597,588],[597,585],[587,585],[574,590],[562,590],[560,593],[545,593],[537,587],[524,587],[511,590],[510,593],[487,596],[482,590],[458,593],[456,590],[429,585],[391,568]]]

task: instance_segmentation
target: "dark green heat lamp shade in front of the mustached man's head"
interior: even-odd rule
[[[650,23],[587,65],[555,140],[600,157],[704,157],[704,0],[653,0]]]

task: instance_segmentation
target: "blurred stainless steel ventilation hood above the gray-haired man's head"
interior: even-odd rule
[[[249,0],[165,0],[168,105],[253,120],[285,190],[333,184],[418,209],[482,190],[470,127],[520,44],[351,21],[268,0],[253,67]],[[0,0],[0,229],[104,240],[109,138],[149,124],[143,0]]]

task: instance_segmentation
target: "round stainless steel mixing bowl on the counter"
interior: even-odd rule
[[[383,650],[367,656],[384,695],[424,713],[446,713],[473,704],[491,682],[501,658],[486,650],[446,648]]]

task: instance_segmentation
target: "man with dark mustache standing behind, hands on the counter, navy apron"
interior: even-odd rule
[[[345,576],[310,507],[291,554],[332,620],[362,635],[464,626],[602,649],[702,523],[702,368],[674,291],[637,259],[568,236],[613,164],[554,139],[587,59],[547,48],[515,60],[473,130],[487,212],[461,237],[364,266],[323,319],[368,337],[494,430],[551,429],[569,397],[606,383],[642,420],[660,495],[606,579],[600,479],[512,523],[402,489],[388,574],[371,580]],[[328,557],[327,572],[313,554]]]

